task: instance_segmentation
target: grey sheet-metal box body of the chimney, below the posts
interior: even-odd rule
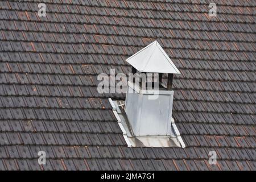
[[[158,97],[151,100],[155,92],[144,92],[139,86],[129,82],[127,88],[125,112],[131,129],[137,137],[169,136],[171,130],[172,101],[174,91],[158,92]]]

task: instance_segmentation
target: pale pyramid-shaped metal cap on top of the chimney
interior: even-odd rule
[[[139,72],[180,74],[180,71],[156,40],[126,61]]]

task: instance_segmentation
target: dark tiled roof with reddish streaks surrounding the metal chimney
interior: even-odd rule
[[[255,1],[0,1],[0,170],[256,169]],[[97,75],[154,40],[186,148],[128,148]],[[47,163],[38,164],[38,151]],[[208,152],[217,152],[217,165]]]

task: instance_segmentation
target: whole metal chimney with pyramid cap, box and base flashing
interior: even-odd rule
[[[158,42],[129,57],[132,73],[157,73],[155,80],[129,80],[126,101],[109,102],[129,147],[185,147],[172,118],[173,74],[180,74]],[[162,82],[167,73],[167,84]],[[138,74],[137,74],[138,76]],[[154,81],[153,81],[154,80]],[[153,86],[152,86],[153,85]]]

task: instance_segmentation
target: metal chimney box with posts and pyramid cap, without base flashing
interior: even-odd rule
[[[172,119],[171,90],[173,74],[180,74],[170,57],[157,41],[126,60],[132,65],[133,73],[159,73],[159,89],[152,91],[147,87],[129,81],[125,102],[125,112],[135,137],[170,136]],[[168,73],[167,86],[161,86],[163,73]],[[157,93],[156,93],[157,92]],[[158,94],[156,99],[150,95]]]

